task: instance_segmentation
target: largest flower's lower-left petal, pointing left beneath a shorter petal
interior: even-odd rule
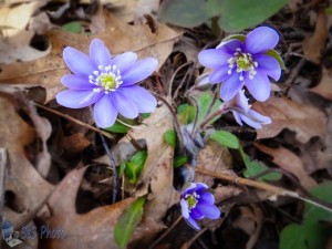
[[[65,107],[83,108],[94,104],[103,94],[103,92],[97,93],[91,90],[65,90],[56,94],[56,101]]]

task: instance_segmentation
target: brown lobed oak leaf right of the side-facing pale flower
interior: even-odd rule
[[[272,123],[257,131],[257,138],[278,135],[283,128],[297,133],[295,138],[305,144],[311,137],[323,137],[326,131],[326,117],[319,108],[299,105],[287,97],[271,96],[268,101],[256,102],[253,110],[269,116]]]

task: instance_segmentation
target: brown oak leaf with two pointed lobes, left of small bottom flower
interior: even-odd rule
[[[114,205],[95,208],[77,215],[76,194],[86,167],[73,169],[61,181],[49,199],[52,216],[41,220],[50,229],[61,227],[64,239],[43,239],[41,248],[49,249],[104,249],[117,248],[113,239],[113,229],[120,215],[135,200],[126,198]]]

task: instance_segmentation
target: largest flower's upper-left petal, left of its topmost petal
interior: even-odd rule
[[[86,76],[94,71],[94,66],[89,56],[74,48],[66,46],[63,50],[63,60],[74,74]]]

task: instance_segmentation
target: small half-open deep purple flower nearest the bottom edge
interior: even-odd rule
[[[220,210],[215,206],[215,197],[206,191],[208,186],[191,183],[181,194],[180,205],[184,218],[196,229],[200,229],[196,220],[204,217],[218,219]]]

